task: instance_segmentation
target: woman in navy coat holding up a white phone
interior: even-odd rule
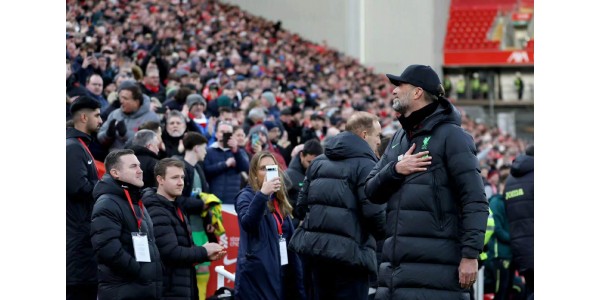
[[[287,247],[294,227],[285,191],[283,172],[273,154],[256,153],[248,185],[235,201],[240,226],[235,299],[306,298],[300,260]]]

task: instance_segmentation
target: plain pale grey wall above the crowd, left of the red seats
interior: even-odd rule
[[[380,73],[410,64],[441,75],[450,0],[222,0],[327,44]],[[364,22],[361,20],[364,18]]]

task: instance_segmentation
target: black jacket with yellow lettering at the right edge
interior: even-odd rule
[[[533,156],[515,159],[504,190],[513,261],[519,271],[533,269]]]

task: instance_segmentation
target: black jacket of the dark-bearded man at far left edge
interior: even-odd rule
[[[80,138],[89,144],[91,136],[67,128],[67,285],[96,284],[98,266],[90,239],[90,220],[98,182],[94,158]]]

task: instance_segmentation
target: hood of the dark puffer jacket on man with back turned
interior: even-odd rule
[[[331,137],[325,144],[325,156],[331,160],[365,157],[377,160],[369,144],[352,132],[342,132]]]

